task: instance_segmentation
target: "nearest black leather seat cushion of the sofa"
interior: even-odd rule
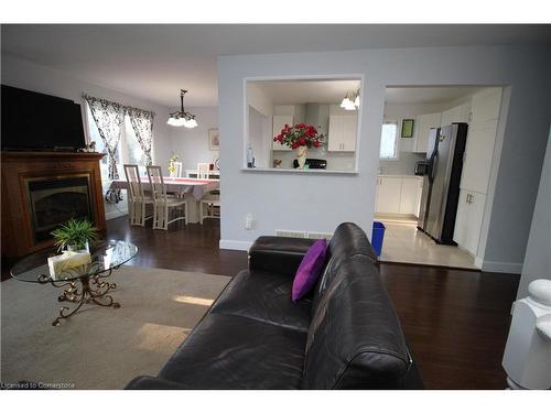
[[[185,389],[296,389],[306,334],[209,313],[161,370]]]

